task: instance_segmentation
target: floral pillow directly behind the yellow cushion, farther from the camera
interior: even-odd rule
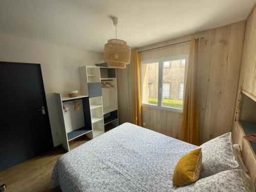
[[[231,133],[211,139],[200,145],[202,148],[202,169],[200,178],[208,177],[224,170],[239,166],[232,150]]]

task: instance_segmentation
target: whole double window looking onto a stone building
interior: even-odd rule
[[[183,109],[184,76],[187,56],[144,61],[142,66],[142,104],[172,111]]]

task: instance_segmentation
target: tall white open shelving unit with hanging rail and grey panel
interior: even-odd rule
[[[89,95],[92,132],[87,134],[95,138],[118,126],[116,69],[95,66],[79,67],[81,93]],[[102,88],[101,82],[110,82],[113,88]],[[108,128],[108,129],[105,129]]]

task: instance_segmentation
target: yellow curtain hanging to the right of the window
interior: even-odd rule
[[[191,38],[180,140],[199,145],[198,126],[199,39]]]

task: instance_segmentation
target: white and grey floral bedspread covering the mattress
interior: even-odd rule
[[[72,191],[174,191],[173,170],[197,146],[124,123],[61,156],[50,188]]]

